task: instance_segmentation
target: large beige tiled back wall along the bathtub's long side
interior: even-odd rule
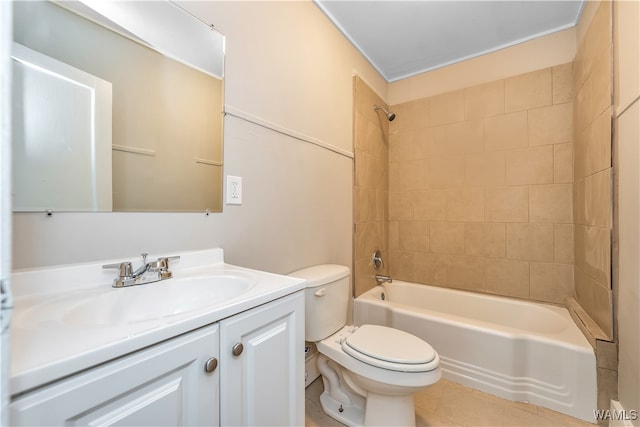
[[[564,303],[573,294],[572,65],[394,105],[394,278]]]

